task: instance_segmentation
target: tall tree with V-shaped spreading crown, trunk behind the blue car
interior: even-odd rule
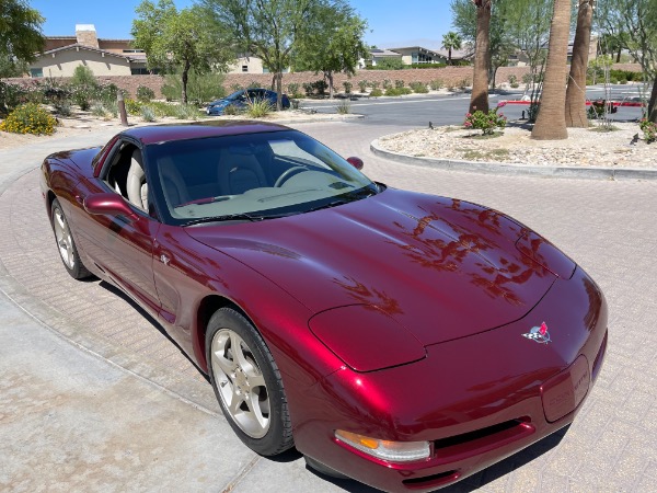
[[[276,107],[283,110],[283,72],[291,53],[312,26],[318,5],[327,0],[199,0],[217,28],[227,26],[235,49],[263,60],[274,73]]]

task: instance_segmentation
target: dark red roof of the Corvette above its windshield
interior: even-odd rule
[[[189,124],[149,125],[123,131],[145,145],[169,142],[174,140],[222,137],[228,135],[260,134],[290,130],[289,127],[266,122],[251,121],[215,121]]]

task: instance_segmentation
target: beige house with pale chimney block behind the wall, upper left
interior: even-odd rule
[[[93,74],[137,76],[149,73],[143,50],[130,39],[99,39],[93,24],[76,25],[76,36],[48,36],[44,53],[30,65],[31,77],[71,77],[76,67]]]

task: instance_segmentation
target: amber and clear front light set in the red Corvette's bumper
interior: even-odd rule
[[[335,438],[357,450],[388,462],[412,462],[428,459],[431,450],[428,442],[391,442],[371,438],[357,433],[335,431]]]

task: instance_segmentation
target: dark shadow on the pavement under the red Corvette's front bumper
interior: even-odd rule
[[[545,438],[537,442],[535,444],[527,447],[523,450],[520,450],[517,454],[514,454],[510,457],[507,457],[505,460],[497,462],[494,466],[491,466],[487,469],[484,469],[483,471],[477,472],[474,475],[471,475],[470,478],[466,478],[465,480],[458,482],[456,484],[452,484],[451,486],[447,486],[440,490],[441,493],[470,493],[472,491],[479,490],[480,488],[485,486],[486,484],[498,480],[499,478],[504,477],[505,474],[508,474],[509,472],[521,468],[522,466],[531,462],[532,460],[541,457],[542,455],[549,452],[550,450],[552,450],[554,447],[556,447],[561,440],[564,438],[564,436],[566,435],[566,433],[568,432],[568,428],[570,427],[570,425],[563,427],[562,429],[560,429],[558,432],[553,433],[550,436],[546,436]],[[295,457],[300,458],[302,457],[301,454],[299,454],[296,449],[291,450],[292,454],[296,454]],[[286,452],[288,454],[288,452]],[[295,460],[295,459],[292,459]],[[366,484],[362,483],[358,483],[354,480],[348,480],[348,479],[337,479],[337,478],[332,478],[330,475],[323,474],[321,472],[315,471],[314,469],[310,468],[308,465],[306,466],[306,469],[308,471],[310,471],[311,473],[315,474],[319,478],[322,478],[323,480],[335,484],[336,486],[341,488],[344,491],[347,491],[349,493],[378,493],[380,492],[380,490],[377,490],[374,488],[368,486]]]

